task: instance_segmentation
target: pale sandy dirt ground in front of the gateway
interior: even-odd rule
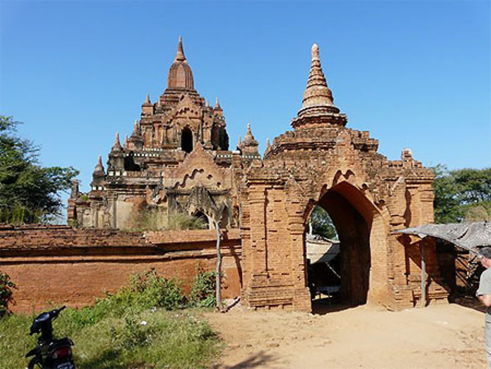
[[[239,305],[207,313],[227,343],[214,368],[486,368],[483,312],[456,304],[326,309],[253,312]]]

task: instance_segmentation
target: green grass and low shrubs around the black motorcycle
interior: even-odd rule
[[[207,368],[221,342],[197,316],[199,310],[182,310],[185,304],[176,281],[150,271],[92,307],[66,309],[54,321],[54,332],[75,342],[78,369]],[[0,368],[27,366],[24,355],[36,345],[28,336],[33,318],[0,319]]]

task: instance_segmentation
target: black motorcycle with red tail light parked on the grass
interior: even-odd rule
[[[38,346],[27,352],[26,357],[34,356],[27,365],[27,369],[75,369],[72,358],[73,341],[65,337],[53,338],[53,320],[65,309],[55,309],[39,314],[30,327],[29,336],[41,333],[37,339]]]

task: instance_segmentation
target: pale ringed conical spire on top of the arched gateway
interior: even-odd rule
[[[312,45],[312,61],[307,80],[307,87],[303,92],[302,107],[298,116],[293,119],[294,128],[313,123],[346,125],[348,121],[345,114],[339,114],[339,109],[334,105],[332,92],[327,87],[326,77],[322,71],[319,57],[319,46]]]

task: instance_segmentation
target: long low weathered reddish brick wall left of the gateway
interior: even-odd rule
[[[223,298],[239,296],[238,230],[223,231]],[[50,304],[81,307],[115,292],[131,275],[155,268],[189,292],[197,266],[216,267],[216,231],[125,232],[67,226],[0,226],[0,271],[17,284],[14,312]]]

